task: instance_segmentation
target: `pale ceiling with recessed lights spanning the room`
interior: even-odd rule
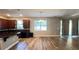
[[[79,9],[0,9],[8,17],[63,17],[79,16]]]

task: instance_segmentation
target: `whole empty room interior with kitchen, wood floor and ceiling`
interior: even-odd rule
[[[0,9],[0,50],[78,50],[79,9]]]

